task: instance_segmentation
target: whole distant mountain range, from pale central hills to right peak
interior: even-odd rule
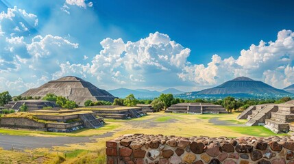
[[[216,87],[208,88],[206,90],[196,92],[182,92],[175,88],[169,88],[162,92],[156,90],[130,90],[127,88],[119,88],[116,90],[109,90],[110,94],[119,98],[125,98],[129,94],[134,94],[136,98],[155,98],[160,94],[173,94],[178,98],[220,98],[225,96],[234,96],[236,98],[254,98],[254,97],[282,97],[282,96],[294,96],[294,85],[280,90],[272,87],[262,81],[255,81],[248,77],[237,77],[230,81],[226,81]]]

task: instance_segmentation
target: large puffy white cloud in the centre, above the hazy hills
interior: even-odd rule
[[[90,72],[104,83],[148,83],[154,73],[180,72],[191,52],[159,32],[150,33],[137,42],[106,38],[100,44],[103,49],[93,58]]]

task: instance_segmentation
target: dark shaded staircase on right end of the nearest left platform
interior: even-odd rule
[[[103,126],[103,120],[96,118],[93,114],[87,113],[80,115],[81,120],[84,122],[86,128],[99,128]]]

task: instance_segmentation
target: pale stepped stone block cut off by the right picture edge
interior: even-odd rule
[[[281,105],[271,118],[265,120],[265,127],[274,133],[288,133],[291,130],[291,122],[294,122],[293,105]]]

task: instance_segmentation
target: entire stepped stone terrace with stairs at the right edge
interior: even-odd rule
[[[247,126],[264,125],[274,133],[288,133],[294,131],[294,101],[250,106],[237,119],[247,119]]]

